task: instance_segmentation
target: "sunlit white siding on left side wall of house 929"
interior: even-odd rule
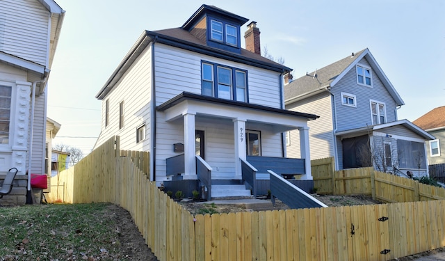
[[[95,147],[111,136],[120,136],[122,150],[149,150],[151,52],[150,47],[140,54],[131,68],[122,76],[113,91],[102,100],[102,132]],[[108,100],[108,126],[105,127],[106,100]],[[124,102],[124,127],[119,129],[119,103]],[[145,122],[147,139],[136,144],[136,128]]]

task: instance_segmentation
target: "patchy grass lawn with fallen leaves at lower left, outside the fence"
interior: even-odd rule
[[[0,260],[135,260],[126,242],[121,242],[122,219],[111,208],[119,207],[103,203],[1,207]]]

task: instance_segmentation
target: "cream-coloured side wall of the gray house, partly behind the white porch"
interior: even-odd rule
[[[309,144],[311,159],[334,157],[334,126],[330,94],[325,92],[300,102],[286,106],[291,111],[314,113],[320,118],[309,120]],[[291,145],[287,147],[287,157],[300,158],[300,132],[291,131]]]

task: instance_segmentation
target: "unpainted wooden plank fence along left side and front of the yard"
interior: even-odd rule
[[[159,260],[391,260],[445,246],[444,200],[193,216],[150,182],[131,157],[120,157],[118,141],[111,139],[59,180],[70,176],[65,182],[73,189],[65,190],[72,203],[127,209]],[[353,175],[342,175],[332,182],[340,187],[347,182],[343,191],[373,187],[362,181],[354,187],[348,184]],[[382,186],[375,191],[398,184],[386,179],[379,184],[380,179],[385,178],[375,175],[374,186]],[[409,184],[401,188],[411,191]],[[421,200],[430,199],[422,198],[426,193],[441,197],[419,187]]]

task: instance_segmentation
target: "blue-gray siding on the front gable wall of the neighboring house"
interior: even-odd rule
[[[371,68],[366,58],[359,61],[359,64]],[[339,131],[372,125],[370,100],[385,103],[386,122],[396,120],[396,103],[373,70],[372,87],[357,84],[357,72],[353,67],[331,91],[335,95]],[[357,107],[341,104],[341,92],[355,95]]]

